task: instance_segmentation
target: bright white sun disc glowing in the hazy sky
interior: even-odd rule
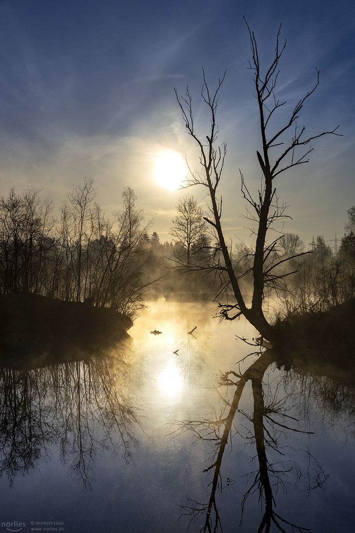
[[[159,157],[155,167],[155,180],[160,187],[177,190],[185,178],[186,168],[180,154],[170,151]]]

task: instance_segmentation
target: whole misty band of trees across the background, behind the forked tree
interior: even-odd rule
[[[111,217],[95,195],[93,180],[84,178],[67,193],[57,216],[53,201],[34,188],[0,197],[1,294],[85,302],[130,318],[146,300],[161,296],[230,302],[223,271],[216,273],[216,243],[193,196],[179,201],[171,240],[161,243],[133,189],[123,190],[122,207]],[[278,239],[269,254],[277,271],[264,298],[273,321],[327,311],[355,296],[355,206],[344,231],[336,254],[323,236],[313,245],[293,233]],[[236,244],[231,251],[234,272],[250,298],[253,257],[252,246]]]

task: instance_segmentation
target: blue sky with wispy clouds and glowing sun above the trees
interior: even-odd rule
[[[171,240],[179,199],[204,190],[171,190],[184,161],[198,165],[174,88],[193,96],[196,131],[208,133],[201,100],[202,68],[213,88],[226,70],[217,110],[219,141],[227,143],[220,182],[222,225],[235,243],[249,244],[240,171],[252,192],[260,184],[257,102],[250,39],[260,59],[273,59],[280,23],[286,49],[276,96],[286,100],[280,120],[316,83],[298,119],[312,142],[310,161],[276,183],[289,207],[284,231],[306,244],[341,238],[355,205],[355,4],[351,0],[0,0],[0,195],[28,185],[60,208],[82,177],[94,179],[96,200],[108,214],[123,188],[154,217],[152,231]],[[165,183],[162,183],[165,180]]]

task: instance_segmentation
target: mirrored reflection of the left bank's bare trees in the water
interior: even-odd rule
[[[133,462],[135,431],[141,427],[139,377],[129,350],[121,356],[29,370],[0,368],[0,476],[6,475],[10,486],[16,475],[31,473],[55,450],[85,489],[91,487],[100,450]]]

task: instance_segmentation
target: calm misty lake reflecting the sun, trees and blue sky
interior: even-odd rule
[[[351,370],[285,372],[242,319],[147,305],[105,356],[1,368],[1,530],[353,531]]]

